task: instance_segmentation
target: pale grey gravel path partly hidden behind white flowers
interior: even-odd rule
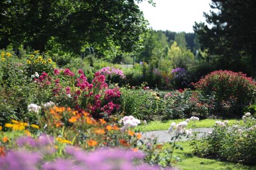
[[[196,128],[192,129],[192,132],[199,132],[197,135],[198,138],[201,138],[205,133],[212,132],[212,128]],[[168,131],[150,131],[150,132],[143,132],[142,138],[155,138],[157,137],[158,142],[168,142],[170,138],[174,135],[174,132],[168,133]],[[188,138],[183,137],[180,141],[186,141]]]

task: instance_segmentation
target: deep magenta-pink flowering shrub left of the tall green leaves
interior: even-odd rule
[[[78,77],[70,69],[54,69],[54,76],[43,72],[34,81],[41,87],[51,88],[53,101],[61,106],[88,110],[94,117],[108,117],[119,110],[119,87],[110,88],[105,76],[95,73],[92,83],[87,81],[81,69]]]

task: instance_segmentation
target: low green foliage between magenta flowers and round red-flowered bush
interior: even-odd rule
[[[211,113],[212,96],[203,96],[191,90],[162,93],[144,89],[121,89],[121,106],[124,112],[140,119],[174,119],[190,117],[191,115],[206,118]],[[138,96],[140,96],[138,98]]]

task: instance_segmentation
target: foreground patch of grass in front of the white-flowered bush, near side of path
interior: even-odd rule
[[[188,142],[179,142],[179,145],[181,145],[184,150],[175,150],[174,155],[180,157],[181,161],[177,162],[174,166],[182,170],[256,169],[256,166],[199,158],[192,155],[192,148],[189,146]]]

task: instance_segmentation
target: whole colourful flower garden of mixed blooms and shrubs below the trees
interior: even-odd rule
[[[165,92],[125,85],[129,75],[114,66],[61,67],[39,51],[1,51],[0,65],[1,169],[189,169],[176,155],[188,147],[195,159],[256,167],[256,83],[241,72],[214,71],[193,89]],[[193,129],[207,118],[223,120],[199,139]],[[159,143],[139,128],[156,119],[182,121]]]

